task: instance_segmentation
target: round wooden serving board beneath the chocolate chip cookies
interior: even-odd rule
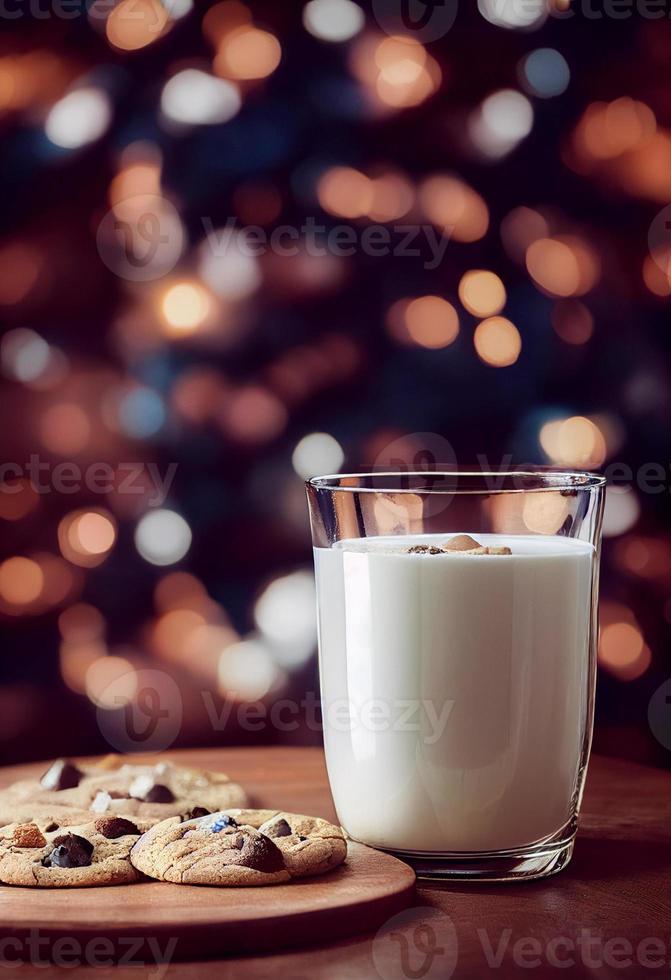
[[[137,757],[140,761],[142,757]],[[252,804],[335,819],[323,791],[321,759],[302,749],[166,753],[176,763],[222,770],[245,785]],[[0,770],[0,786],[39,775],[46,764]],[[315,778],[315,777],[321,778]],[[0,886],[0,939],[9,956],[49,959],[70,947],[121,962],[203,959],[306,946],[378,928],[406,907],[414,872],[401,861],[350,843],[346,863],[329,874],[264,888],[213,888],[142,882],[109,888]],[[37,933],[35,932],[37,930]],[[65,962],[65,961],[64,961]]]

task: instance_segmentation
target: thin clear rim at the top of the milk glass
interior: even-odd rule
[[[427,483],[436,478],[453,479],[454,486],[364,486],[361,484],[345,484],[342,480],[378,480],[383,481],[393,478],[399,483],[413,479],[425,480]],[[485,481],[485,485],[478,488],[459,487],[458,481],[463,479],[479,479]],[[497,486],[496,481],[512,480],[538,480],[540,486]],[[491,481],[491,485],[487,483]],[[449,469],[449,470],[382,470],[375,472],[367,470],[360,473],[330,473],[324,476],[313,476],[305,481],[305,486],[313,490],[329,491],[333,493],[414,493],[414,494],[472,494],[480,496],[491,496],[492,494],[504,493],[548,493],[548,492],[571,492],[572,494],[584,493],[598,487],[604,487],[607,483],[606,477],[599,473],[592,473],[589,470],[569,470],[553,467],[524,467],[519,470],[477,470],[477,469]]]

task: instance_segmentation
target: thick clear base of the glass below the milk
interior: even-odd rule
[[[552,844],[534,844],[514,851],[421,854],[391,851],[418,878],[448,881],[533,881],[557,874],[571,860],[575,835]]]

